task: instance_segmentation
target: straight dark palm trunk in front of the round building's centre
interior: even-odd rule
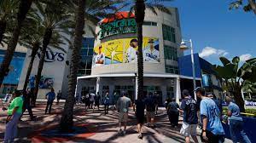
[[[145,3],[144,0],[136,1],[135,19],[137,22],[137,39],[138,39],[138,54],[137,54],[137,79],[138,99],[143,99],[143,21],[145,18]]]

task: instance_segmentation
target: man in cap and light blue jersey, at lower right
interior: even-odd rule
[[[201,141],[208,143],[224,142],[224,129],[220,121],[220,112],[218,110],[218,106],[212,99],[207,97],[205,89],[196,88],[195,93],[196,96],[201,99]]]

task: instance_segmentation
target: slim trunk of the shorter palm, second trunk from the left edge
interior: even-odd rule
[[[31,60],[29,62],[29,66],[27,68],[25,83],[24,83],[24,86],[23,86],[23,91],[26,91],[26,87],[27,87],[27,84],[29,82],[30,73],[32,72],[32,66],[33,66],[35,57],[37,55],[38,49],[39,49],[39,43],[35,43],[32,47]]]

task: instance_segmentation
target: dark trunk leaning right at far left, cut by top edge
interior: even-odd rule
[[[25,20],[26,14],[28,10],[31,8],[31,5],[32,5],[32,0],[20,0],[19,11],[17,14],[17,25],[14,28],[13,37],[9,41],[8,48],[3,57],[3,62],[0,66],[0,87],[3,83],[4,77],[7,76],[9,73],[9,65],[11,60],[13,59],[16,45],[19,40],[22,22]]]

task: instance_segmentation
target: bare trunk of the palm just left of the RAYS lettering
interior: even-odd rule
[[[40,83],[40,79],[41,79],[41,76],[42,76],[42,71],[43,71],[43,68],[44,68],[44,58],[45,58],[45,53],[46,53],[46,49],[49,45],[49,41],[52,37],[52,29],[50,28],[47,28],[44,32],[44,40],[43,40],[43,49],[40,53],[40,60],[39,60],[39,64],[38,64],[38,73],[37,73],[37,76],[36,76],[36,85],[35,85],[35,90],[34,90],[34,94],[33,94],[33,105],[32,106],[35,106],[36,104],[36,100],[37,100],[37,97],[38,97],[38,89],[39,89],[39,83]]]

